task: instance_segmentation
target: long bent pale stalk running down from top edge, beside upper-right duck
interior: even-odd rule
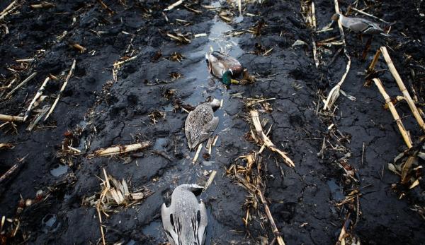
[[[334,4],[335,4],[335,13],[339,13],[338,0],[334,0]],[[347,51],[344,29],[342,28],[342,24],[341,24],[340,19],[338,19],[338,28],[339,28],[339,33],[341,35],[341,42],[344,45],[344,54],[347,57],[348,62],[347,62],[347,66],[346,66],[346,71],[342,75],[341,80],[339,81],[339,83],[337,83],[335,85],[334,88],[331,89],[331,92],[329,92],[327,100],[324,103],[323,109],[330,109],[332,104],[334,104],[336,102],[336,100],[339,97],[339,89],[341,88],[342,83],[344,83],[344,80],[346,79],[346,76],[348,75],[348,71],[350,71],[350,67],[351,67],[351,58],[350,58],[350,55],[348,54],[348,51]]]

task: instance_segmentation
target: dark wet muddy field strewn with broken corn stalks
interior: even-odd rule
[[[102,213],[107,244],[165,244],[162,203],[169,203],[179,184],[205,185],[214,171],[198,196],[208,209],[205,244],[277,244],[263,205],[246,204],[249,193],[226,171],[237,157],[260,149],[249,140],[250,101],[257,101],[253,107],[268,120],[265,131],[273,125],[271,141],[295,163],[290,168],[271,150],[261,153],[264,195],[286,244],[335,244],[348,216],[347,233],[361,244],[424,244],[424,181],[409,190],[388,169],[407,147],[378,88],[363,86],[373,54],[385,46],[421,108],[424,3],[358,1],[358,9],[368,4],[365,12],[393,23],[392,37],[374,37],[362,61],[367,38],[344,30],[351,69],[342,90],[356,100],[340,95],[328,112],[322,101],[341,79],[346,59],[341,45],[318,45],[316,68],[312,41],[339,38],[339,29],[314,32],[302,15],[304,1],[242,1],[243,17],[237,1],[184,1],[164,11],[174,2],[75,0],[33,8],[38,2],[17,1],[0,20],[0,114],[23,116],[52,75],[47,97],[25,123],[1,123],[0,143],[11,148],[0,149],[0,175],[26,157],[0,186],[0,216],[10,219],[0,231],[2,244],[102,244],[93,201],[106,179],[103,169],[125,179],[130,191],[145,193],[142,201],[111,208],[109,217]],[[341,12],[353,2],[340,1]],[[0,9],[8,4],[1,1]],[[316,30],[322,30],[331,22],[334,1],[314,4]],[[190,42],[167,33],[181,33]],[[297,40],[305,44],[293,45]],[[255,82],[226,88],[208,73],[210,48],[236,57]],[[28,131],[55,101],[74,59],[76,68],[54,111]],[[382,58],[376,69],[386,69],[380,80],[388,94],[401,95]],[[16,83],[5,88],[13,79]],[[195,151],[188,150],[183,129],[185,108],[208,97],[223,102],[215,111],[218,140],[210,156],[204,148],[193,164]],[[412,112],[405,102],[396,108],[416,144],[423,132]],[[146,141],[151,146],[144,150],[89,157],[99,148]],[[354,174],[347,176],[341,162]]]

